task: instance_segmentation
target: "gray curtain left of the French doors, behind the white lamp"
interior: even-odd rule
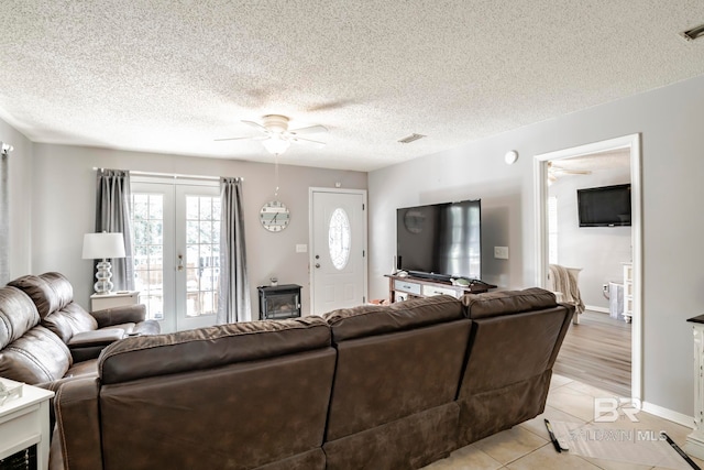
[[[134,289],[134,259],[132,255],[132,227],[130,221],[130,172],[124,170],[97,171],[96,233],[121,232],[124,237],[125,258],[110,260],[114,291]],[[95,271],[94,271],[95,272]]]

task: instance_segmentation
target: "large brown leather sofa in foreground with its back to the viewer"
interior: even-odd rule
[[[542,413],[572,315],[530,288],[127,338],[58,387],[52,467],[420,468]]]

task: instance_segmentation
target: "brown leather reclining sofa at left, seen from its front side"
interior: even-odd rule
[[[54,387],[63,378],[98,376],[98,356],[131,334],[155,335],[143,305],[89,314],[59,273],[26,275],[0,288],[0,376]]]

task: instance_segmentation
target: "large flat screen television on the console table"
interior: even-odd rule
[[[481,280],[481,200],[397,209],[396,267],[419,277]]]

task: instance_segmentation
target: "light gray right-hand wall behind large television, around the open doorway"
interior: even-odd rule
[[[616,136],[642,135],[644,400],[693,415],[692,332],[704,309],[704,77],[487,138],[370,173],[370,295],[395,251],[397,207],[464,197],[483,203],[484,277],[502,287],[536,284],[534,155]],[[520,153],[513,166],[506,151]],[[494,260],[494,245],[509,260]]]

